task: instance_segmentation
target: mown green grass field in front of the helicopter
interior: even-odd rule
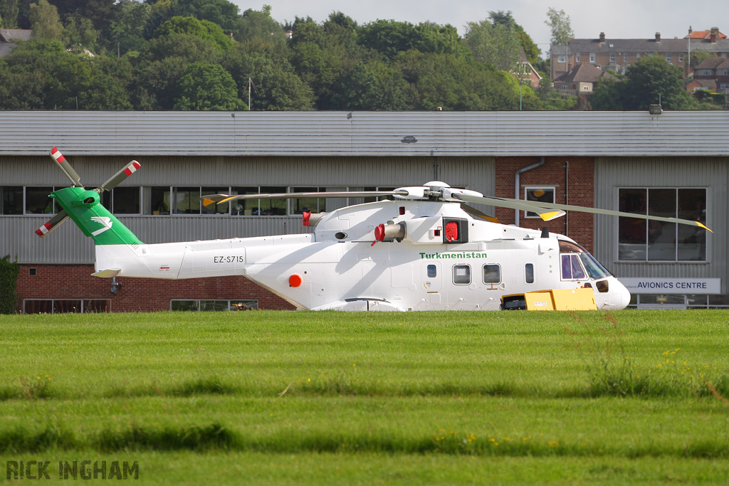
[[[2,316],[0,466],[48,460],[58,481],[59,461],[136,461],[144,484],[719,484],[728,316]]]

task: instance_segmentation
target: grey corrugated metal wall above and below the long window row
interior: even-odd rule
[[[103,183],[128,157],[69,156],[87,187]],[[401,187],[440,179],[494,194],[493,157],[139,157],[133,186]],[[437,178],[434,173],[437,171]],[[1,185],[66,187],[50,157],[0,157]],[[481,206],[486,213],[491,208]],[[93,243],[66,222],[47,238],[34,232],[50,216],[0,216],[0,254],[21,263],[90,263]],[[142,241],[208,240],[307,232],[298,216],[119,216]],[[7,235],[7,236],[6,236]]]

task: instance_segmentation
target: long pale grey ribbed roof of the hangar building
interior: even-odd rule
[[[0,111],[0,156],[727,155],[726,133],[729,111]]]

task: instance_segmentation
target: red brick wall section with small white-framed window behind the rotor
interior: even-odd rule
[[[514,198],[516,171],[539,162],[540,157],[499,157],[496,159],[496,196]],[[569,162],[569,172],[565,184],[565,162]],[[545,165],[521,174],[519,181],[519,199],[524,198],[526,186],[554,186],[555,203],[564,204],[565,187],[569,195],[567,203],[572,205],[594,207],[595,168],[591,157],[546,157]],[[514,210],[496,208],[499,223],[514,224]],[[523,211],[519,214],[519,226],[539,230],[546,226],[550,232],[569,236],[593,252],[595,236],[595,218],[592,214],[569,211],[566,216],[543,222],[539,218],[525,218]]]

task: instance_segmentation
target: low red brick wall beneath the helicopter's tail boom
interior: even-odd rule
[[[36,275],[30,275],[31,268]],[[92,277],[93,271],[93,265],[21,264],[15,290],[20,294],[18,310],[22,299],[109,299],[114,312],[169,310],[170,299],[257,299],[260,309],[294,309],[240,276],[176,281],[118,277],[121,286],[112,294],[112,279]]]

